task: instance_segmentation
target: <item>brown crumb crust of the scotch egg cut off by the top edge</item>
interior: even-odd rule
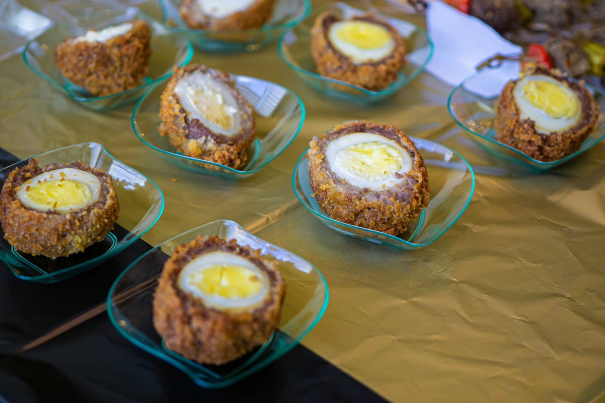
[[[273,13],[275,0],[257,0],[246,10],[238,11],[224,18],[204,15],[197,0],[184,0],[178,8],[183,21],[189,28],[209,31],[240,31],[260,28]]]

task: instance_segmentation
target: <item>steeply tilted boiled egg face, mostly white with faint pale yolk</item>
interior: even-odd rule
[[[194,71],[178,80],[174,94],[191,120],[197,118],[212,132],[237,134],[240,114],[237,101],[226,84],[211,74]]]

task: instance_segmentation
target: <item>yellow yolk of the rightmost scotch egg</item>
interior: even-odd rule
[[[529,80],[523,86],[523,98],[535,108],[553,118],[571,118],[578,113],[580,103],[563,84]]]

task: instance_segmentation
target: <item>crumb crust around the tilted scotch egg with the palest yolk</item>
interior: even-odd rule
[[[189,73],[200,71],[209,74],[214,80],[229,88],[238,103],[241,123],[238,132],[232,136],[214,133],[197,118],[189,119],[181,106],[174,88],[178,80]],[[234,169],[242,168],[247,162],[246,149],[252,144],[256,134],[254,109],[235,88],[229,74],[211,71],[206,66],[189,65],[175,68],[174,74],[160,97],[160,118],[158,127],[161,135],[168,135],[168,140],[178,151],[187,156],[223,164]],[[208,164],[207,164],[208,165]]]

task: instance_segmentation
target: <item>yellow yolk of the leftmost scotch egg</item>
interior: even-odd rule
[[[25,195],[39,206],[62,210],[73,205],[87,204],[93,194],[86,184],[70,179],[56,179],[25,185]]]

